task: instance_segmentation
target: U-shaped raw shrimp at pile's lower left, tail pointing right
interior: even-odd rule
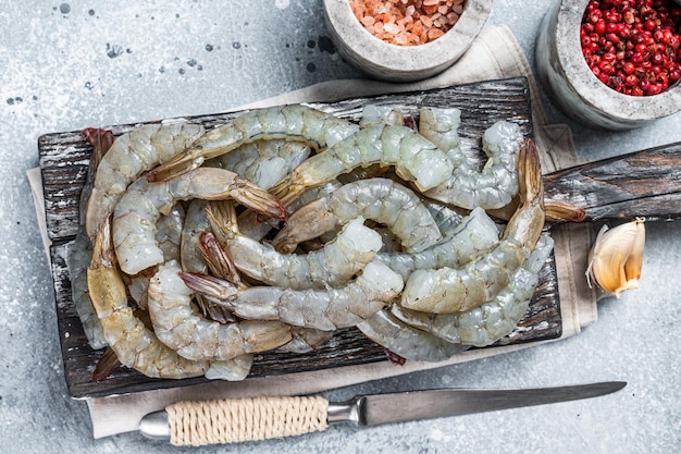
[[[289,342],[290,329],[280,321],[245,320],[222,324],[196,315],[193,291],[171,260],[159,267],[149,283],[149,315],[156,335],[185,358],[231,359],[265,352]]]

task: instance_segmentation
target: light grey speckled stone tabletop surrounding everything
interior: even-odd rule
[[[326,38],[319,1],[8,0],[0,9],[0,449],[3,453],[188,452],[136,433],[92,440],[66,393],[52,281],[26,170],[40,134],[224,111],[317,82],[359,77]],[[556,0],[497,0],[528,58]],[[568,122],[544,101],[552,122]],[[568,122],[569,123],[569,122]],[[603,133],[573,126],[598,159],[681,140],[681,116]],[[626,380],[598,400],[211,446],[200,452],[672,453],[681,446],[678,222],[648,223],[641,289],[599,304],[558,343],[324,394]]]

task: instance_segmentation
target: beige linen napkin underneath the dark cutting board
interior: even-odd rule
[[[506,26],[483,29],[459,62],[446,72],[426,81],[412,84],[389,84],[364,79],[332,81],[243,106],[235,110],[282,103],[334,101],[344,98],[438,88],[516,76],[527,76],[530,81],[535,138],[540,149],[544,152],[542,156],[544,171],[549,172],[577,163],[569,128],[562,125],[545,125],[546,118],[530,65],[515,36]],[[40,186],[39,172],[36,174],[35,171],[32,171],[29,180],[32,186]],[[39,218],[45,218],[42,200],[37,198],[36,205],[39,207]],[[44,232],[47,237],[46,229]],[[583,279],[585,255],[591,245],[587,233],[589,230],[582,225],[561,226],[554,230],[558,284],[561,294],[562,338],[579,333],[582,327],[596,319],[595,294],[586,286]],[[46,243],[46,245],[48,244]],[[311,394],[364,381],[498,355],[536,344],[538,342],[474,349],[437,364],[408,361],[405,366],[394,366],[385,361],[292,373],[284,377],[253,378],[242,382],[214,381],[193,386],[87,398],[86,401],[92,420],[94,437],[100,438],[137,430],[143,416],[163,409],[166,405],[178,401]]]

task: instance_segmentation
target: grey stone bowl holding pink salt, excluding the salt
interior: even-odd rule
[[[424,79],[451,66],[468,50],[490,16],[493,0],[467,0],[458,22],[439,38],[419,46],[385,42],[357,20],[348,0],[324,0],[324,17],[338,53],[372,78]]]

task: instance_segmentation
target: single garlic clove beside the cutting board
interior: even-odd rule
[[[645,246],[644,220],[608,229],[604,225],[589,254],[586,279],[604,292],[620,297],[627,290],[639,287]]]

